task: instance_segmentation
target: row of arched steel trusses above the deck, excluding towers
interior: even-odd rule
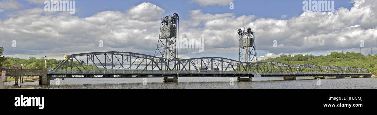
[[[253,71],[253,72],[336,72],[368,73],[366,68],[288,65],[277,61],[241,62],[222,57],[177,58],[166,61],[161,57],[133,52],[90,52],[69,55],[54,69],[132,69],[132,70],[195,70],[195,71]],[[54,70],[53,69],[53,70]]]

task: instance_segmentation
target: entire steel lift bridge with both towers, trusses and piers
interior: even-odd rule
[[[23,71],[29,73],[22,75],[38,75],[40,84],[49,84],[53,78],[161,77],[164,82],[177,82],[178,77],[237,77],[238,81],[251,81],[252,77],[283,77],[283,80],[296,80],[299,76],[314,79],[325,76],[371,77],[366,68],[257,61],[255,33],[250,28],[236,31],[238,60],[222,57],[178,58],[178,46],[175,44],[178,40],[178,23],[176,13],[161,19],[158,46],[153,56],[116,51],[72,54],[53,69],[26,69]],[[18,69],[6,71],[7,75],[20,75]]]

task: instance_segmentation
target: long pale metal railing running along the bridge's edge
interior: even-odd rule
[[[253,72],[211,70],[141,70],[141,69],[49,69],[48,74],[261,74],[261,75],[371,75],[369,73]]]

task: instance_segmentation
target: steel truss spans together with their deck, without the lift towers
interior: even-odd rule
[[[177,58],[177,63],[161,57],[132,52],[90,52],[72,54],[55,68],[48,69],[51,78],[66,75],[107,77],[293,77],[293,76],[361,76],[371,75],[366,68],[288,65],[285,63],[241,62],[222,57]]]

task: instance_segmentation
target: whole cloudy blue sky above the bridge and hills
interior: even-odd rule
[[[0,0],[0,47],[5,56],[19,58],[101,51],[153,55],[159,20],[172,12],[179,15],[180,38],[204,39],[203,52],[179,49],[179,58],[237,60],[236,33],[248,27],[255,32],[258,60],[360,52],[361,41],[364,55],[375,54],[377,0],[334,0],[333,13],[303,11],[303,1],[75,0],[70,14],[45,11],[45,0]]]

